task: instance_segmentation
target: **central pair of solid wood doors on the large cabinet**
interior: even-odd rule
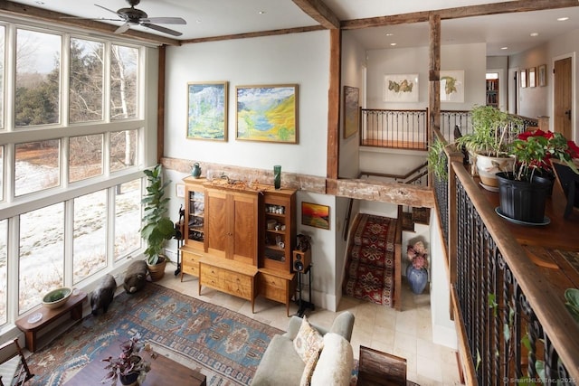
[[[257,267],[260,197],[254,191],[205,190],[205,252]]]

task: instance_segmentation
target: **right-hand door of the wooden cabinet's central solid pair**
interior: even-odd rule
[[[257,265],[258,246],[258,196],[256,194],[234,193],[232,259]]]

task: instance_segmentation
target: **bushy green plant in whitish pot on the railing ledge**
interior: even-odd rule
[[[523,130],[523,121],[492,106],[477,106],[470,111],[470,117],[472,133],[457,138],[456,143],[472,155],[483,186],[496,188],[495,174],[508,171],[514,163],[508,148]]]

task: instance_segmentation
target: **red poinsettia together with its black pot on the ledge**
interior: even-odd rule
[[[526,131],[511,144],[516,163],[511,172],[497,174],[500,206],[497,213],[510,221],[544,225],[546,198],[555,180],[551,159],[558,159],[579,173],[573,159],[579,147],[561,133]]]

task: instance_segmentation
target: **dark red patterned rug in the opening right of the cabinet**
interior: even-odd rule
[[[395,233],[396,219],[358,214],[348,247],[346,295],[393,306]]]

